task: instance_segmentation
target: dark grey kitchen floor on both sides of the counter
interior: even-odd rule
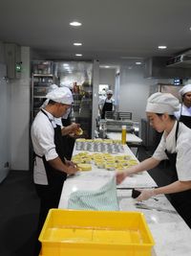
[[[150,156],[138,148],[139,161]],[[167,163],[150,171],[159,186],[165,176]],[[39,200],[32,183],[32,172],[11,171],[0,183],[0,255],[33,256]]]

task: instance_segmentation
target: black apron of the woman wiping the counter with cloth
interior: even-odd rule
[[[176,128],[176,143],[178,138],[179,131],[179,122]],[[166,155],[170,161],[170,170],[168,170],[168,175],[170,175],[171,183],[177,181],[178,174],[176,168],[177,162],[177,152],[171,153],[165,150]],[[187,225],[191,228],[191,190],[173,193],[168,195],[170,198],[170,202],[175,207],[175,209],[180,214],[181,218],[187,223]]]

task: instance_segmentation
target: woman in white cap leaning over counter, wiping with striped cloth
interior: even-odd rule
[[[179,100],[170,93],[154,93],[148,98],[146,115],[150,125],[162,132],[154,154],[124,172],[117,172],[117,184],[129,175],[150,170],[161,160],[171,162],[171,183],[159,188],[139,190],[137,200],[146,200],[159,194],[170,194],[170,201],[191,228],[191,129],[177,121],[174,112],[180,107]]]

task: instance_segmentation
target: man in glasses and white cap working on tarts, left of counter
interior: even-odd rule
[[[55,88],[46,95],[48,104],[32,123],[32,146],[35,152],[33,180],[40,198],[38,234],[51,208],[57,208],[62,186],[67,175],[77,172],[74,163],[64,157],[61,127],[56,120],[62,117],[73,103],[69,88]],[[36,248],[39,253],[40,244]]]

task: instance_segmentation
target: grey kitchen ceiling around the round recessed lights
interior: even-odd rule
[[[191,48],[190,11],[190,0],[1,0],[0,41],[50,59],[170,57]]]

